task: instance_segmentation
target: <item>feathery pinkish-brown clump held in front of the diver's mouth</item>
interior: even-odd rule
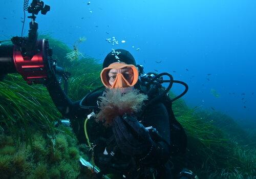
[[[100,111],[96,115],[96,121],[103,122],[105,126],[111,125],[116,116],[138,113],[147,96],[132,89],[123,94],[120,89],[107,89],[106,93],[99,97]]]

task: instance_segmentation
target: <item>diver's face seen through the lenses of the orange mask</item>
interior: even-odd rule
[[[111,86],[113,86],[117,74],[122,74],[123,77],[129,82],[132,83],[133,82],[133,70],[131,68],[123,68],[123,69],[111,69],[109,72],[109,83]]]

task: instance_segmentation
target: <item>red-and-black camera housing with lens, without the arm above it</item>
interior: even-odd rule
[[[0,46],[0,75],[19,73],[28,84],[43,83],[48,78],[54,60],[52,50],[46,39],[36,41],[36,53],[26,53],[26,49],[18,44]],[[26,54],[30,54],[28,56]]]

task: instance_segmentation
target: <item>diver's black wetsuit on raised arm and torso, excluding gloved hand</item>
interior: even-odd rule
[[[81,100],[72,102],[69,98],[67,98],[67,96],[60,89],[58,83],[54,80],[51,82],[49,81],[46,86],[60,113],[63,115],[63,117],[70,119],[72,128],[76,133],[79,142],[86,143],[83,124],[84,120],[87,118],[87,115],[89,115],[93,109],[82,108],[79,105]],[[137,88],[139,88],[138,85]],[[98,97],[101,95],[102,92],[95,92],[91,94],[86,101],[82,101],[82,105],[98,106]],[[94,112],[97,113],[97,109],[94,109]],[[116,148],[113,132],[109,128],[103,127],[102,124],[92,121],[89,123],[90,129],[88,132],[91,142],[98,144],[98,148],[96,147],[94,149],[96,165],[100,167],[103,173],[118,171],[123,171],[124,173],[129,172],[130,174],[132,173],[131,175],[133,176],[130,176],[130,178],[150,178],[147,177],[147,174],[145,173],[147,169],[149,173],[152,172],[152,168],[157,170],[157,175],[155,176],[156,178],[170,178],[170,169],[167,166],[168,163],[166,162],[168,161],[170,155],[176,153],[179,148],[176,147],[176,144],[170,143],[172,141],[170,141],[169,117],[166,107],[161,102],[154,103],[151,106],[148,106],[144,115],[137,120],[142,121],[142,124],[145,127],[152,126],[156,128],[162,138],[165,141],[168,141],[167,143],[170,145],[168,145],[166,142],[155,141],[158,142],[159,146],[161,146],[163,149],[161,156],[154,156],[152,159],[147,159],[147,163],[144,165],[138,164],[137,161],[131,159],[131,156],[126,156],[117,149],[115,157],[110,159],[113,165],[108,164],[107,162],[109,162],[109,159],[104,158],[105,156],[103,152],[105,149],[108,151],[108,148],[111,148],[111,150]],[[136,171],[141,169],[141,167],[144,168],[142,175],[141,172],[136,173]]]

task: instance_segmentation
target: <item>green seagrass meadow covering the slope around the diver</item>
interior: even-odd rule
[[[72,100],[101,86],[97,60],[79,56],[49,35],[40,38],[49,39],[57,64],[71,73]],[[199,178],[255,178],[255,131],[244,130],[217,111],[189,108],[182,99],[173,103],[173,110],[188,136],[186,154],[171,159],[174,172],[186,167]],[[0,82],[1,178],[94,177],[79,162],[80,156],[89,159],[89,148],[78,144],[70,128],[54,126],[60,118],[45,86],[28,85],[18,74]]]

